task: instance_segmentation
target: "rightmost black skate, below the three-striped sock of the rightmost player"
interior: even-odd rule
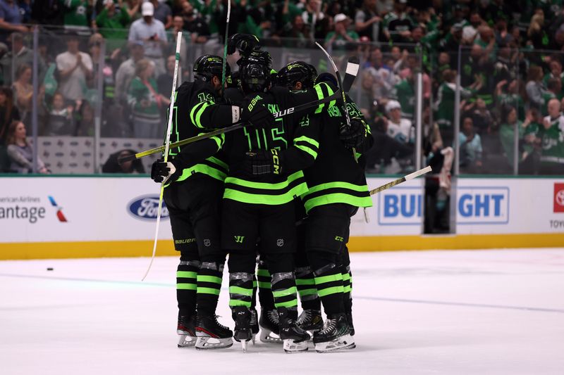
[[[313,343],[319,353],[355,348],[355,340],[350,336],[346,315],[328,315],[323,329],[314,333]]]

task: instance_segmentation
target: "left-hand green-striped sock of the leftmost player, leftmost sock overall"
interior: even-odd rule
[[[180,263],[176,269],[176,300],[178,301],[178,315],[190,317],[196,312],[197,274],[200,268],[199,260],[189,260],[180,255]]]

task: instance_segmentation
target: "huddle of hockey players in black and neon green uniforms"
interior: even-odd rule
[[[178,346],[228,348],[234,338],[246,350],[260,330],[286,352],[309,341],[318,352],[355,348],[346,243],[350,217],[372,205],[362,158],[369,126],[352,101],[345,109],[333,75],[302,61],[276,72],[252,35],[231,37],[235,51],[238,72],[227,64],[226,84],[223,58],[195,61],[194,82],[176,90],[171,142],[246,126],[171,148],[167,163],[152,166],[180,251]],[[234,332],[216,317],[227,255]]]

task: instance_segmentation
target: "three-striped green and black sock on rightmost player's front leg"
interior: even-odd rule
[[[345,312],[343,275],[337,267],[337,255],[324,251],[309,251],[309,264],[314,269],[315,286],[326,314]]]

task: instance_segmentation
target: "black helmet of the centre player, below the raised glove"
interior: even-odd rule
[[[272,63],[270,53],[266,51],[253,51],[249,56],[241,58],[237,63],[240,66],[239,79],[241,89],[245,94],[264,92],[270,88]]]

